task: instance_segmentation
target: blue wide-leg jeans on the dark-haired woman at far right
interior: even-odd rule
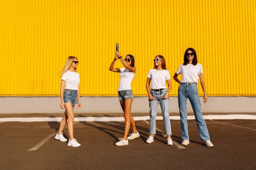
[[[178,101],[180,109],[180,125],[183,140],[189,140],[188,123],[187,123],[187,99],[191,103],[195,114],[195,121],[198,126],[198,132],[202,141],[210,139],[206,123],[201,111],[200,99],[196,83],[182,83],[179,88]]]

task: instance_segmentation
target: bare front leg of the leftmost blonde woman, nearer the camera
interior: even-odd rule
[[[68,117],[68,122],[67,122],[67,129],[68,129],[68,134],[70,137],[70,141],[74,139],[74,134],[73,134],[73,123],[74,123],[74,106],[70,102],[67,102],[65,104],[65,109]]]

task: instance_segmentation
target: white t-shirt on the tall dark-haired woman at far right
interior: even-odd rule
[[[181,64],[176,74],[182,74],[181,83],[197,83],[200,74],[203,74],[203,66],[201,64],[193,65]]]

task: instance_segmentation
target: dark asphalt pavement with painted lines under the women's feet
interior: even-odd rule
[[[0,169],[256,169],[256,120],[206,122],[214,147],[201,142],[195,120],[189,120],[190,144],[183,149],[178,147],[182,142],[178,120],[171,120],[172,139],[177,142],[173,146],[163,138],[163,120],[157,121],[161,131],[153,143],[145,143],[148,121],[136,121],[140,137],[119,147],[114,143],[122,137],[124,122],[76,122],[74,136],[81,144],[77,148],[54,139],[59,122],[2,122]],[[64,136],[68,139],[67,127]]]

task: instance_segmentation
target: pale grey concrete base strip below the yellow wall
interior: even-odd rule
[[[204,113],[255,113],[256,97],[208,97],[204,103],[200,97]],[[178,113],[177,97],[169,97],[170,113]],[[0,97],[0,113],[63,113],[60,97]],[[75,107],[76,113],[122,113],[118,97],[81,97],[81,108]],[[193,112],[189,103],[187,111]],[[133,113],[148,113],[148,97],[134,97]],[[158,105],[157,112],[161,112]]]

